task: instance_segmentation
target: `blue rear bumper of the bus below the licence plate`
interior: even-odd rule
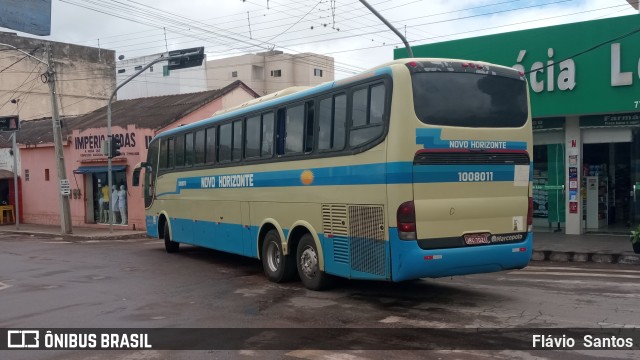
[[[393,281],[521,269],[533,252],[532,233],[519,243],[435,250],[423,250],[416,241],[400,240],[397,231],[390,241]]]

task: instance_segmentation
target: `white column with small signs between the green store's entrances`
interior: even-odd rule
[[[566,229],[565,233],[568,235],[580,235],[583,232],[582,226],[582,136],[580,133],[580,119],[577,116],[568,116],[565,119],[565,211],[566,211]],[[575,158],[577,157],[577,158]],[[573,160],[575,159],[575,160]],[[572,163],[572,160],[574,163]],[[569,168],[576,167],[578,173],[578,193],[575,199],[577,202],[577,212],[571,212],[570,199],[570,178]]]

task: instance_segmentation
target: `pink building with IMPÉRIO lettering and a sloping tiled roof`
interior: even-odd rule
[[[101,141],[107,135],[107,109],[63,120],[63,147],[67,178],[71,184],[73,226],[104,226],[107,211],[115,204],[114,224],[144,229],[141,187],[131,187],[133,168],[146,160],[155,134],[202,120],[221,109],[258,97],[236,81],[223,89],[192,94],[117,101],[112,104],[112,129],[122,140],[122,155],[112,161],[116,193],[108,189],[107,157]],[[21,222],[60,224],[58,175],[54,157],[51,119],[22,123],[18,135],[22,165]],[[105,205],[109,202],[110,205]],[[122,211],[120,211],[122,210]]]

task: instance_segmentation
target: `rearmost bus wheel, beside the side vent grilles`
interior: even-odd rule
[[[322,290],[332,283],[332,276],[320,271],[320,261],[316,243],[311,234],[305,234],[298,244],[296,254],[298,274],[304,286],[309,290]]]

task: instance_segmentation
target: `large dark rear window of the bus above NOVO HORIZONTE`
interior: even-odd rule
[[[411,78],[416,115],[425,124],[503,128],[527,121],[523,80],[463,72],[418,72]]]

